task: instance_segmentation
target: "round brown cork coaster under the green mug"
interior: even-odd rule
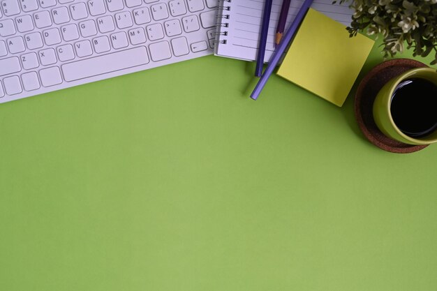
[[[404,144],[385,136],[373,121],[373,101],[384,84],[412,68],[425,67],[420,61],[412,59],[392,59],[371,69],[364,77],[355,94],[355,119],[366,138],[376,147],[397,154],[420,151],[428,145]]]

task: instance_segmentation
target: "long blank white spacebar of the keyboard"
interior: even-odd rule
[[[62,65],[62,73],[67,82],[93,77],[105,73],[133,68],[149,63],[146,47],[134,47],[112,54],[83,59]]]

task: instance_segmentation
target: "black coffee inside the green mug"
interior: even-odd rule
[[[437,129],[437,85],[410,78],[399,83],[390,112],[394,124],[410,137],[424,137]]]

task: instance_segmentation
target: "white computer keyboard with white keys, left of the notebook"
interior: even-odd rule
[[[0,103],[213,53],[218,0],[0,0]]]

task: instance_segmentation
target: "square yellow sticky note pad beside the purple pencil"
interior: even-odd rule
[[[277,74],[341,107],[373,43],[310,8]]]

